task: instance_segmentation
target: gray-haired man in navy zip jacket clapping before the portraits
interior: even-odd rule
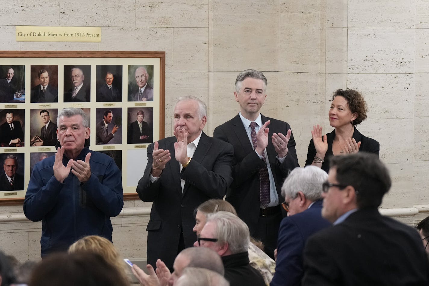
[[[88,149],[88,115],[66,108],[57,123],[57,153],[36,163],[24,200],[25,216],[42,221],[42,257],[66,250],[85,235],[112,240],[110,217],[124,205],[115,161]]]

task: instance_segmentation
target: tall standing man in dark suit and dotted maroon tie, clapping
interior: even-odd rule
[[[240,113],[215,128],[213,134],[234,146],[234,182],[226,200],[248,225],[250,235],[262,240],[264,251],[273,258],[283,218],[281,184],[299,164],[289,124],[259,112],[266,84],[266,77],[257,70],[239,73],[234,96]]]

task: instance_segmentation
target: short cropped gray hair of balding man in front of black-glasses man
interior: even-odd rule
[[[186,267],[199,267],[215,271],[222,276],[225,274],[224,263],[221,256],[207,247],[188,247],[183,249],[179,255],[186,256],[189,264]]]

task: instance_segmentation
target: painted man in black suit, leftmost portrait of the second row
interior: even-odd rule
[[[6,122],[0,125],[0,142],[3,147],[20,146],[24,142],[21,123],[13,120],[13,110],[6,111]]]

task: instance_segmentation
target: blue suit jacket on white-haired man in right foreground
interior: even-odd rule
[[[331,225],[322,217],[322,200],[302,213],[285,217],[278,232],[277,260],[271,286],[301,285],[302,254],[311,234]]]

